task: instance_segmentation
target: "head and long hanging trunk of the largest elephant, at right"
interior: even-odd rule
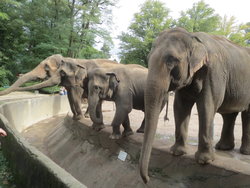
[[[189,85],[206,63],[207,51],[202,41],[184,29],[164,31],[154,42],[148,62],[145,133],[140,156],[140,174],[145,183],[149,181],[149,159],[165,94]]]

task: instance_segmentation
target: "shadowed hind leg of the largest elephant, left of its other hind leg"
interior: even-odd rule
[[[218,150],[232,150],[234,148],[234,124],[238,112],[222,114],[223,127],[219,142],[215,148]]]

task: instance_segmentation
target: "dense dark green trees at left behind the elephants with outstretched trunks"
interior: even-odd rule
[[[104,25],[112,22],[115,2],[1,0],[0,65],[11,71],[8,80],[14,81],[15,75],[30,71],[52,54],[109,57],[113,43]],[[96,47],[97,38],[108,45],[106,51]]]

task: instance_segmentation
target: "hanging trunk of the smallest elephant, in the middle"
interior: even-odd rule
[[[103,124],[100,98],[96,94],[93,94],[88,97],[88,103],[90,119],[95,124]]]

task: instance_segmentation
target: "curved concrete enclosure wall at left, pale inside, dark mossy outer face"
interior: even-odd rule
[[[0,106],[0,127],[8,134],[1,138],[2,148],[18,187],[86,187],[20,136],[30,125],[68,111],[66,96],[32,98]]]

